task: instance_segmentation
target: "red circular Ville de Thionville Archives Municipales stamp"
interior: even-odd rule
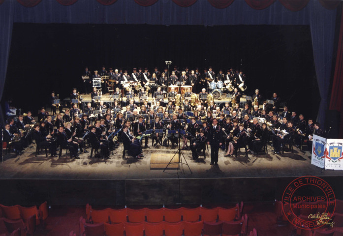
[[[331,216],[336,198],[322,178],[303,176],[288,184],[282,195],[282,211],[288,221],[300,229],[313,230],[335,224]]]

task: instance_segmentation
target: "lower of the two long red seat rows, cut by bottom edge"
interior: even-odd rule
[[[81,236],[246,236],[247,230],[247,214],[239,221],[230,222],[204,222],[201,220],[177,223],[162,221],[159,223],[89,224],[84,218],[80,218]],[[254,232],[249,235],[254,236]],[[257,236],[257,233],[255,235]]]

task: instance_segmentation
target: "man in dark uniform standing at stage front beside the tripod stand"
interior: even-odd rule
[[[217,118],[212,120],[213,126],[207,136],[207,144],[211,145],[211,163],[210,165],[218,165],[218,151],[221,147],[221,128],[218,125]]]

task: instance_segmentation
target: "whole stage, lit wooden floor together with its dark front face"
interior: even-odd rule
[[[150,142],[151,143],[151,142]],[[209,147],[210,148],[210,147]],[[52,205],[140,205],[140,204],[209,204],[280,199],[294,177],[312,175],[326,179],[342,198],[342,172],[311,165],[309,152],[252,155],[244,153],[224,157],[219,150],[218,166],[194,161],[191,152],[183,151],[187,165],[181,169],[151,169],[152,153],[175,153],[177,149],[157,146],[143,149],[145,157],[122,159],[122,145],[107,161],[34,156],[30,146],[21,156],[7,154],[0,163],[0,200],[2,204],[31,204],[48,200]],[[243,150],[243,149],[242,149]],[[65,150],[63,150],[63,154]],[[201,156],[200,156],[201,157]],[[182,172],[184,170],[184,173]],[[72,196],[72,197],[70,197]]]

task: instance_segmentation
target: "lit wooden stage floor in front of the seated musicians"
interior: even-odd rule
[[[114,150],[106,162],[98,158],[90,159],[90,153],[80,155],[81,159],[70,159],[69,154],[58,157],[45,157],[44,151],[34,156],[35,147],[26,148],[21,156],[4,155],[0,163],[0,179],[167,179],[167,178],[245,178],[245,177],[298,177],[313,176],[342,176],[340,171],[321,169],[311,165],[310,153],[294,148],[294,153],[272,153],[268,146],[268,154],[253,155],[249,153],[247,159],[244,153],[224,157],[219,150],[218,166],[210,165],[210,151],[206,151],[205,161],[195,161],[191,158],[190,150],[183,150],[187,165],[181,166],[179,171],[168,169],[151,169],[152,153],[175,153],[171,149],[157,145],[156,148],[143,148],[142,160],[131,157],[122,159],[123,146]],[[144,141],[143,141],[144,142]],[[90,150],[90,148],[88,148]],[[242,149],[243,151],[243,149]],[[63,154],[65,150],[63,150]],[[156,155],[156,154],[155,154]],[[201,158],[202,156],[200,156]],[[181,171],[184,170],[184,173]]]

